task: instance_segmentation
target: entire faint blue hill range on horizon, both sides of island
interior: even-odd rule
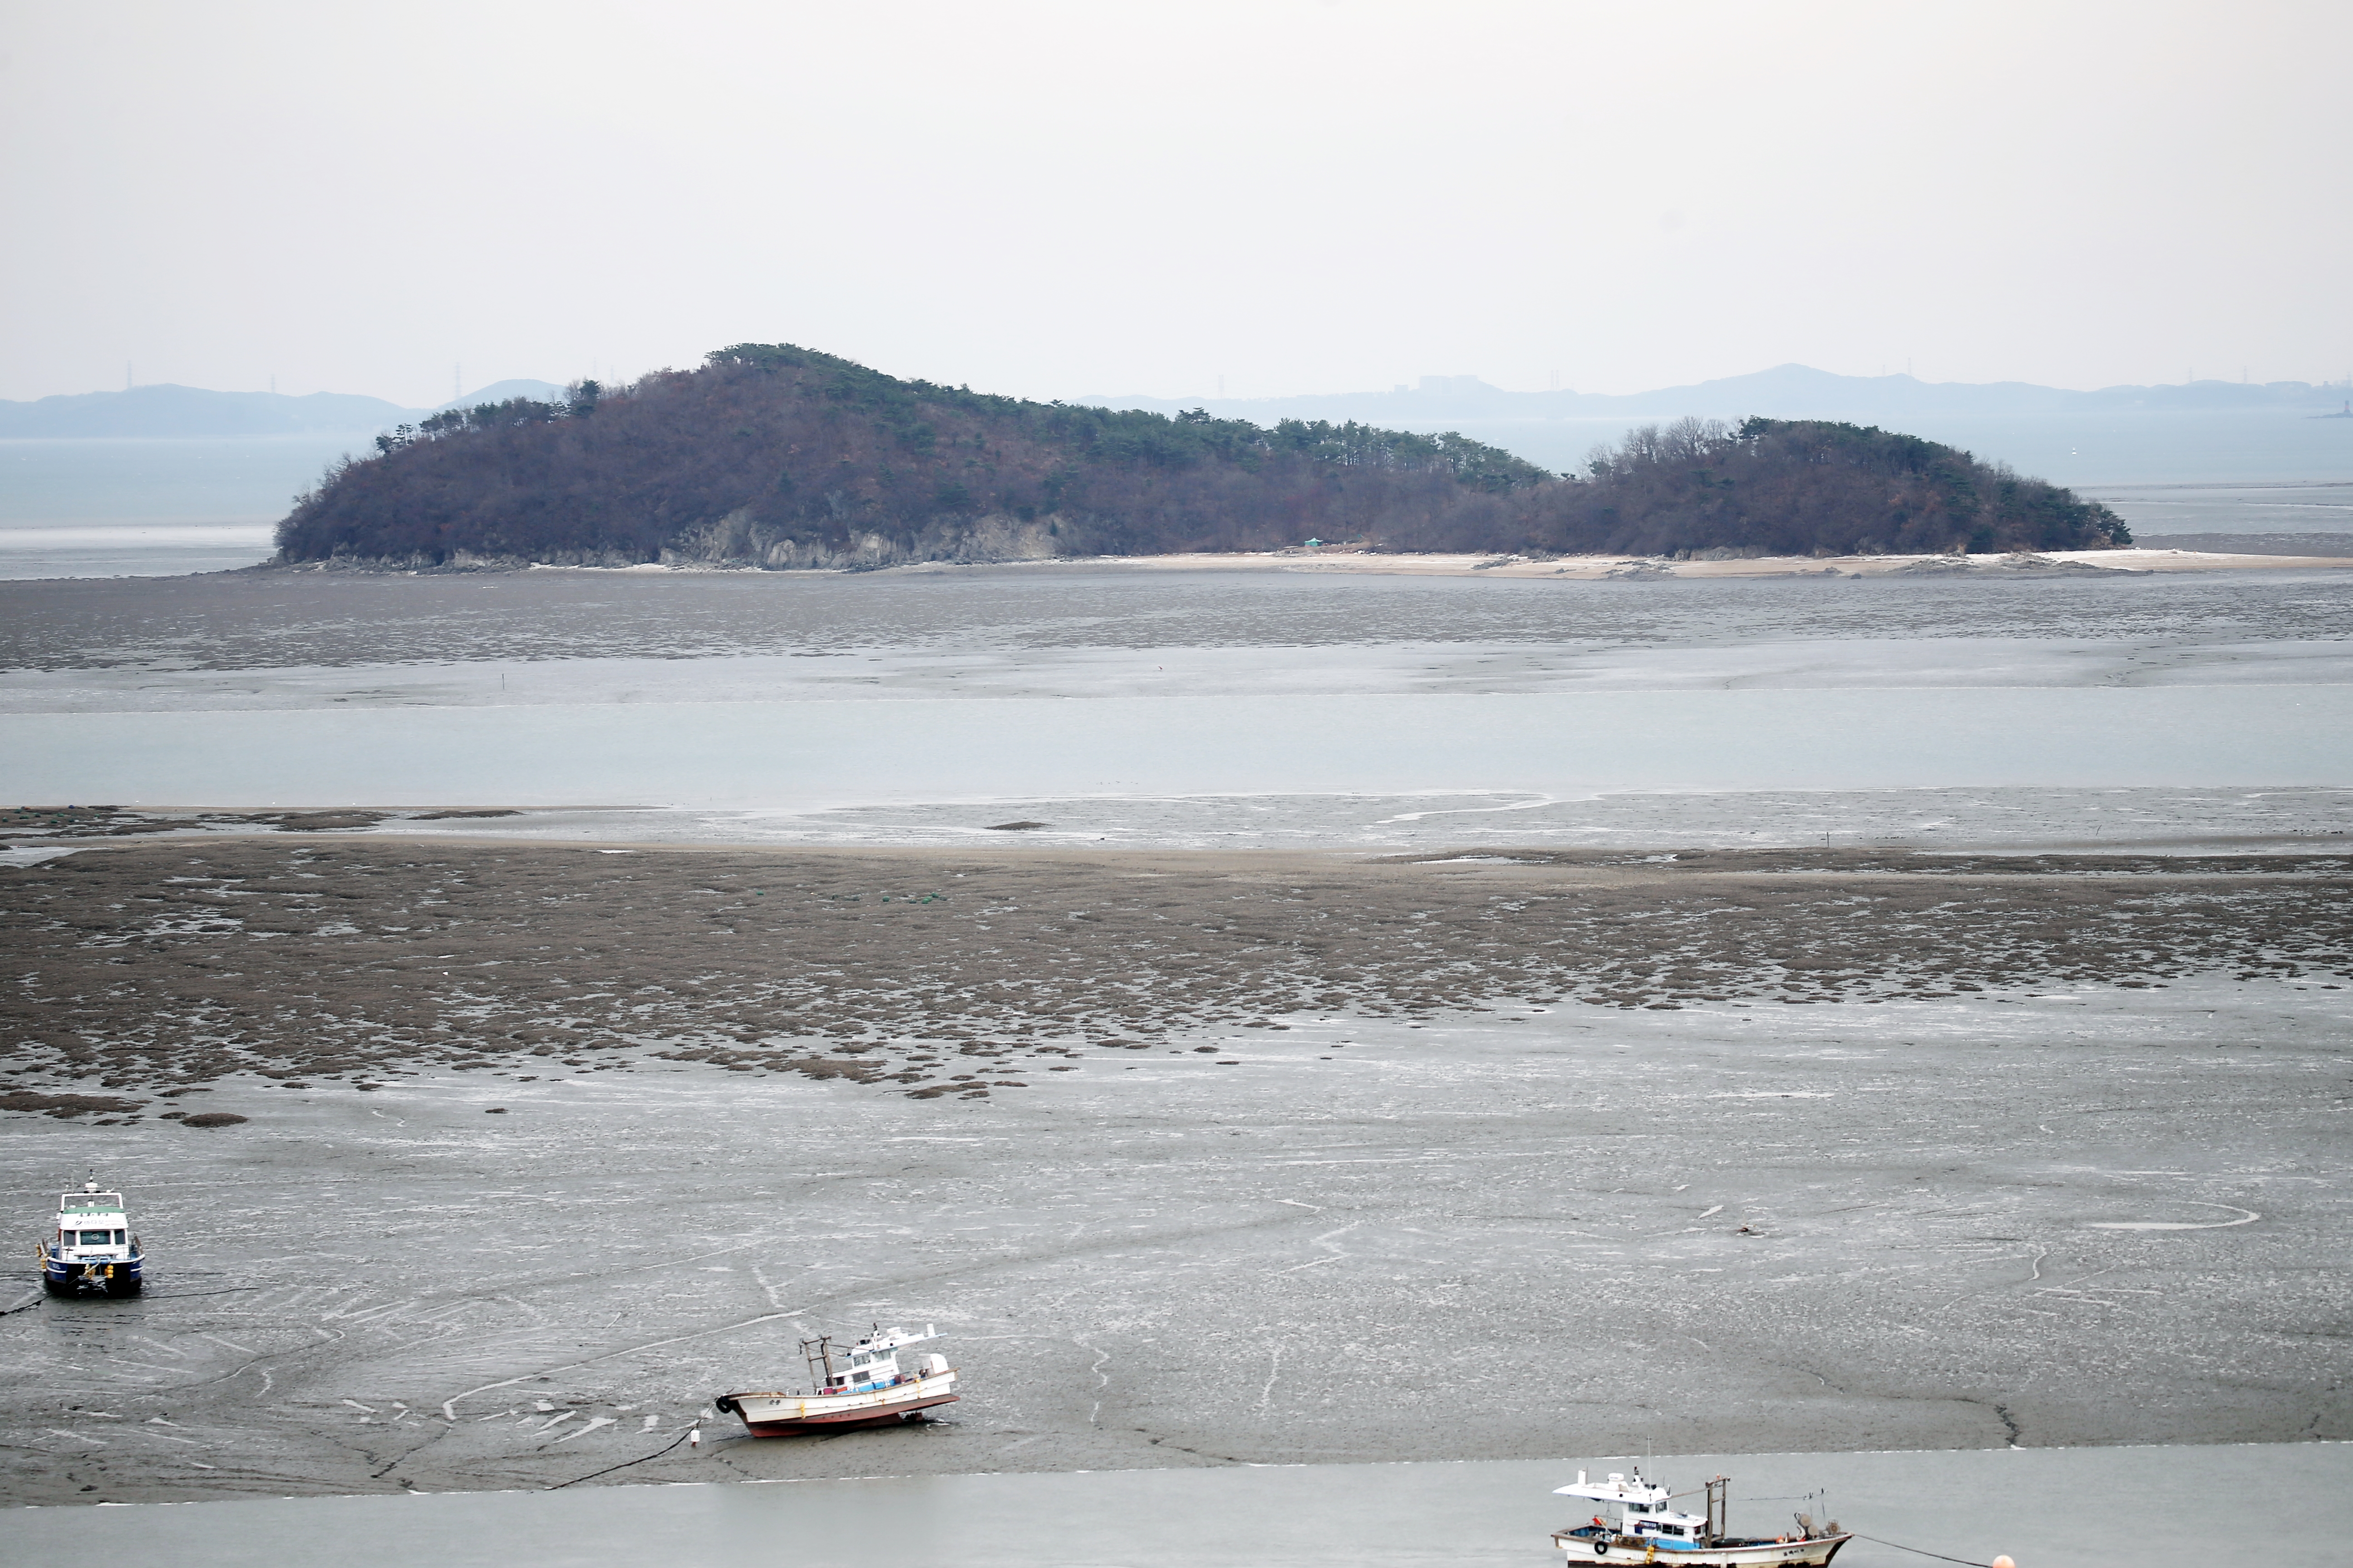
[[[440,404],[471,409],[508,397],[555,400],[553,381],[496,381]],[[1459,418],[1847,418],[1894,423],[1955,414],[2334,414],[2348,388],[2308,381],[2191,381],[2181,386],[2108,386],[2068,393],[2026,381],[1915,381],[1913,376],[1835,376],[1807,364],[1777,364],[1657,393],[1506,393],[1478,376],[1424,376],[1386,393],[1313,393],[1304,397],[1073,397],[1078,407],[1179,414],[1209,409],[1219,418],[1273,425],[1282,418],[1332,418],[1381,425],[1428,425]],[[0,402],[0,437],[219,437],[219,435],[372,435],[416,423],[438,409],[402,409],[346,393],[209,393],[193,386],[139,386],[125,393],[75,393],[38,402]]]

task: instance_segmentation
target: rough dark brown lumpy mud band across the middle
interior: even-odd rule
[[[2353,856],[680,851],[132,842],[5,867],[21,1074],[191,1088],[656,1051],[979,1093],[967,1058],[1494,997],[1671,1011],[2339,976]],[[2322,980],[2334,983],[2334,980]],[[624,1056],[614,1056],[624,1053]],[[1038,1060],[1040,1053],[1052,1060]]]

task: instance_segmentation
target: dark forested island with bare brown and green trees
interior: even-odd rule
[[[769,569],[1273,550],[1887,555],[2125,545],[2071,491],[1911,435],[1685,418],[1551,475],[1461,435],[1146,414],[901,381],[791,343],[376,437],[278,562]]]

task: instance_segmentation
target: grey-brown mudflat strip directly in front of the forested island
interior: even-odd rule
[[[2348,597],[2353,574],[2280,569],[1600,583],[1499,581],[1497,571],[1344,576],[1278,557],[1226,571],[1167,562],[849,576],[224,571],[0,583],[0,670],[169,675],[847,649],[1280,649],[1257,661],[1268,670],[1294,649],[1468,642],[1555,644],[1567,654],[1760,639],[2325,644],[2344,637]]]

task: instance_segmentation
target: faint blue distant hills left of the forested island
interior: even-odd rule
[[[471,409],[508,397],[560,397],[551,381],[496,381],[442,409]],[[219,437],[219,435],[369,435],[416,423],[438,409],[402,409],[351,393],[209,393],[200,386],[134,386],[122,393],[73,393],[35,402],[0,402],[0,437]]]

